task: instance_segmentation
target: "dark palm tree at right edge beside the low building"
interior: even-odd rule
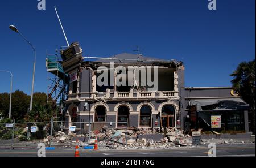
[[[233,71],[231,81],[233,89],[249,104],[251,111],[251,129],[255,134],[255,59],[250,62],[241,62]]]

